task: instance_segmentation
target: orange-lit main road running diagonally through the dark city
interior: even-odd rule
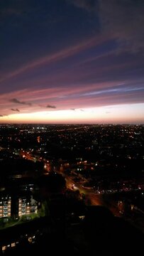
[[[38,157],[32,156],[27,151],[21,151],[20,156],[26,157],[26,159],[31,161],[43,161],[43,163],[45,164],[43,170],[44,174],[48,174],[53,169],[49,161],[43,160],[41,158],[38,159]],[[113,215],[125,218],[125,220],[128,220],[128,222],[130,222],[136,228],[142,230],[142,232],[144,233],[143,216],[141,216],[140,213],[137,213],[137,218],[135,218],[135,221],[133,219],[133,214],[130,215],[129,217],[122,216],[119,212],[118,204],[116,203],[116,201],[113,200],[113,193],[96,193],[96,191],[94,191],[94,188],[84,188],[81,182],[74,182],[72,180],[72,177],[65,176],[63,174],[63,170],[57,170],[57,168],[55,168],[55,171],[57,171],[57,173],[62,174],[65,177],[67,188],[70,188],[73,191],[76,191],[78,189],[81,194],[83,193],[85,195],[86,205],[106,206],[106,208],[109,208],[109,210],[111,210],[111,213],[113,213]],[[133,213],[135,213],[135,210],[133,210]]]

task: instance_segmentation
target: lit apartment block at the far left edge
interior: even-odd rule
[[[0,218],[11,217],[11,197],[0,198]]]

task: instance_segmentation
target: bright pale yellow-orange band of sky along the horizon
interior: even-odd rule
[[[1,123],[144,123],[144,104],[113,105],[76,110],[52,110],[32,113],[15,113],[1,117]]]

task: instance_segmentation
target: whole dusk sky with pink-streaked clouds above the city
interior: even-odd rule
[[[0,122],[144,124],[143,0],[1,0]]]

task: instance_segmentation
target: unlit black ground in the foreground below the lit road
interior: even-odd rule
[[[77,214],[57,215],[1,230],[5,240],[19,240],[1,255],[138,255],[144,236],[102,206],[87,206],[84,219]],[[29,241],[28,241],[29,239]]]

